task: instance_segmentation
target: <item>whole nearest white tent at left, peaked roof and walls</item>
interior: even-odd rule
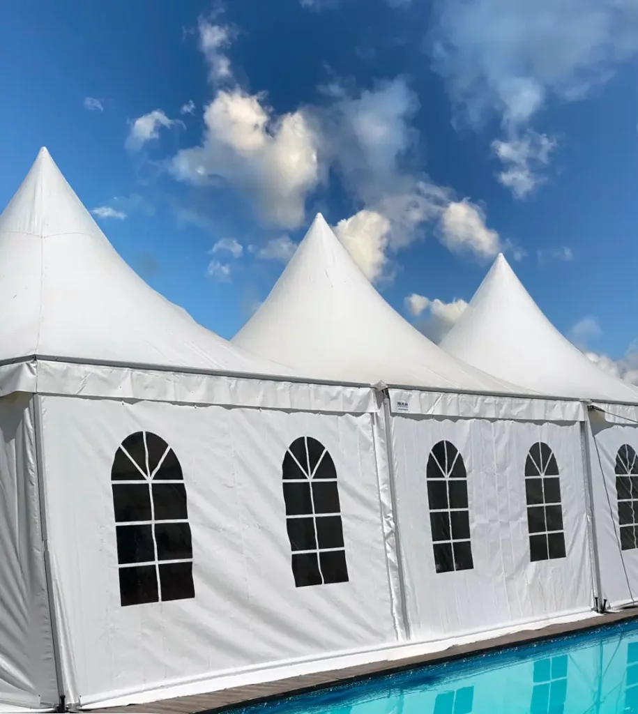
[[[396,642],[369,387],[302,382],[198,326],[45,149],[0,216],[0,271],[0,708],[151,701]]]

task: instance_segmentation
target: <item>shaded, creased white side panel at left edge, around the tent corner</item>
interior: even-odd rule
[[[0,399],[0,711],[51,708],[58,689],[40,530],[31,395]]]

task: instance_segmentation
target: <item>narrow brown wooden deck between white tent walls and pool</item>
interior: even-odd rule
[[[362,679],[379,673],[398,672],[418,665],[457,659],[475,653],[522,643],[537,642],[539,640],[557,637],[557,635],[589,630],[599,627],[600,625],[609,625],[632,618],[638,618],[638,608],[623,610],[621,613],[607,613],[606,615],[599,615],[598,617],[587,618],[586,620],[579,620],[574,623],[547,625],[547,627],[537,630],[522,630],[515,634],[504,635],[490,640],[482,640],[482,642],[455,645],[440,652],[428,653],[418,657],[393,660],[391,662],[384,660],[382,662],[373,662],[330,672],[292,677],[278,680],[277,682],[251,684],[208,694],[198,694],[188,697],[166,699],[149,704],[134,704],[93,711],[104,714],[216,714],[247,704],[258,703],[259,701],[268,700],[280,695],[301,693],[335,683],[345,683],[348,682],[348,680],[354,681]]]

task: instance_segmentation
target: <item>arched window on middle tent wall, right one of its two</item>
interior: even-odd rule
[[[565,557],[558,464],[552,449],[538,441],[525,461],[530,560]]]

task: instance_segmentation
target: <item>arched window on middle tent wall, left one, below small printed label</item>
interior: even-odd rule
[[[450,441],[439,441],[427,459],[427,501],[437,573],[471,570],[470,511],[463,457]]]

